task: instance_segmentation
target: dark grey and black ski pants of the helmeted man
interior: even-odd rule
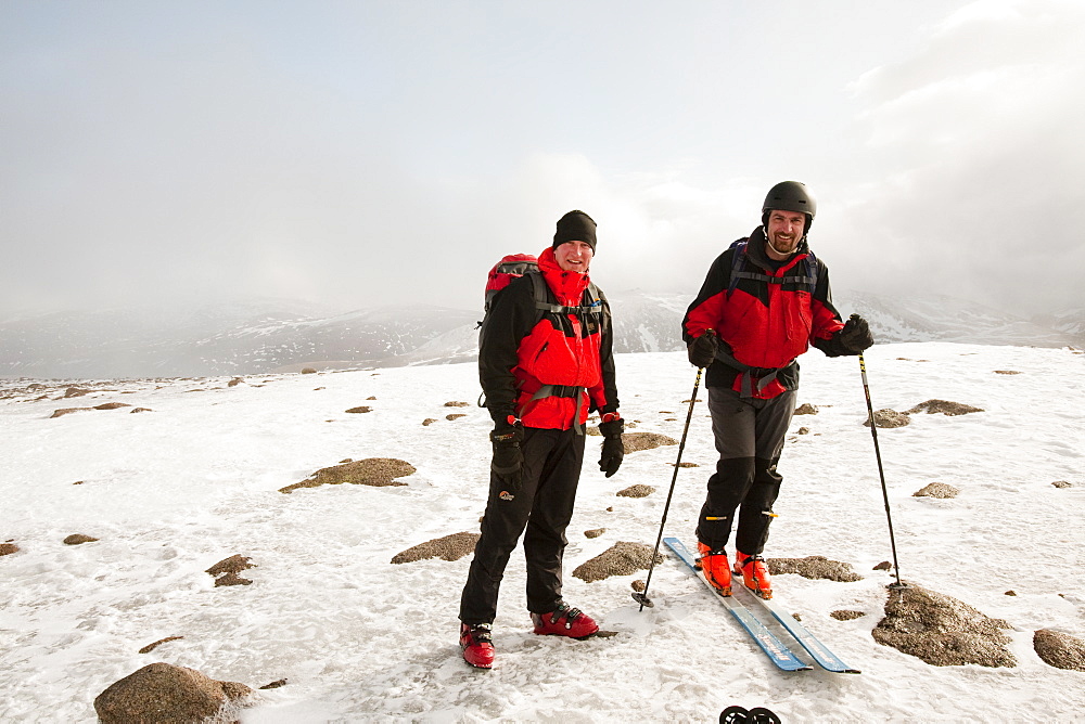
[[[736,547],[746,555],[765,550],[773,503],[783,477],[776,464],[795,412],[795,390],[770,400],[740,397],[726,387],[709,388],[712,435],[719,460],[709,478],[697,538],[714,551],[727,545],[738,510]]]

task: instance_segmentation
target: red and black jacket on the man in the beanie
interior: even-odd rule
[[[585,302],[587,274],[563,271],[553,249],[538,264],[556,305]],[[617,411],[610,305],[601,292],[599,301],[600,313],[544,311],[539,318],[528,277],[501,290],[478,341],[478,379],[495,422],[512,415],[526,427],[567,430],[583,428],[589,410]],[[539,397],[545,385],[563,393]]]

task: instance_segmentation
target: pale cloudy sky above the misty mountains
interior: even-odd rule
[[[692,299],[786,179],[837,289],[1080,308],[1083,39],[1075,0],[10,0],[0,316],[475,309],[574,208],[603,289]]]

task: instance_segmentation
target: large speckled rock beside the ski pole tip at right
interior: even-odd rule
[[[1016,667],[1007,648],[1010,638],[1001,632],[1010,628],[956,598],[910,584],[890,592],[885,617],[871,635],[935,667]]]

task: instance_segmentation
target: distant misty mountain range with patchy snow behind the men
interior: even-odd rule
[[[610,295],[615,350],[684,349],[688,295]],[[1085,309],[1024,320],[954,299],[841,293],[880,342],[957,341],[1085,347]],[[316,369],[447,364],[477,353],[481,311],[398,306],[328,314],[304,302],[253,300],[184,309],[65,312],[0,322],[0,376],[197,377]]]

